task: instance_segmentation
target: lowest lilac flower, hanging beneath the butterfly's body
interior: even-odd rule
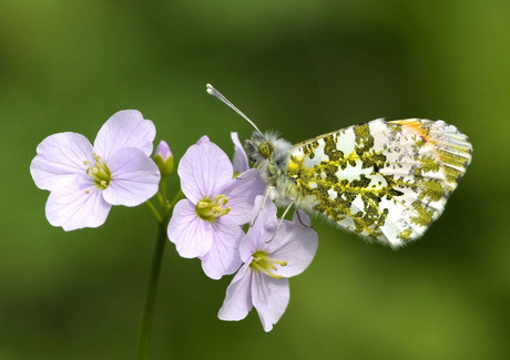
[[[312,263],[318,237],[310,228],[308,215],[300,210],[276,230],[276,206],[266,202],[261,209],[262,203],[263,196],[257,196],[253,210],[257,219],[239,245],[244,265],[226,289],[218,318],[242,320],[255,307],[264,330],[271,331],[287,308],[288,278],[303,272]]]

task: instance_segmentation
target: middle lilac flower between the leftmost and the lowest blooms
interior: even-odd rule
[[[198,257],[204,272],[220,279],[241,266],[241,225],[252,214],[256,195],[265,184],[255,169],[236,178],[228,156],[206,136],[192,145],[177,168],[186,196],[174,208],[167,234],[177,253]]]

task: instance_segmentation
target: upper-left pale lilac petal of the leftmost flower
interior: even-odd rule
[[[67,176],[85,174],[84,161],[94,163],[94,150],[85,136],[59,133],[44,138],[30,164],[30,174],[39,188],[51,191]]]

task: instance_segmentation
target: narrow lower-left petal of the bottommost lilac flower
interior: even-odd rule
[[[217,317],[221,320],[238,321],[244,319],[253,308],[252,276],[247,264],[243,265],[226,289],[225,300]]]

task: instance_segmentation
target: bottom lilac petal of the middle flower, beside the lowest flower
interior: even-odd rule
[[[205,275],[217,280],[224,275],[234,274],[243,264],[239,258],[239,240],[244,232],[239,226],[230,224],[224,218],[213,224],[213,245],[201,260]]]

